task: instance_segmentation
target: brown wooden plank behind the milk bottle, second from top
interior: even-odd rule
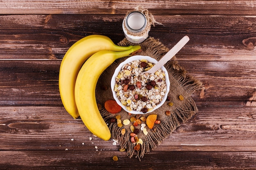
[[[107,35],[118,43],[124,38],[123,18],[124,15],[0,15],[0,59],[61,59],[74,42],[91,34]],[[184,35],[190,37],[177,54],[184,60],[255,60],[253,16],[157,15],[155,19],[164,25],[151,27],[149,35],[168,48]]]

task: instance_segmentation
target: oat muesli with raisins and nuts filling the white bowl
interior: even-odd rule
[[[165,73],[159,69],[155,74],[141,74],[154,64],[147,60],[134,60],[125,64],[116,77],[117,98],[127,110],[146,113],[159,104],[166,93]]]

